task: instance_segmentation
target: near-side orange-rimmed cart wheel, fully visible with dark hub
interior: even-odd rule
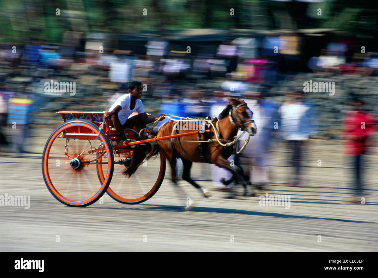
[[[103,148],[101,152],[88,153],[99,147]],[[99,156],[104,171],[100,183],[96,171]],[[46,186],[59,202],[71,207],[85,207],[101,198],[112,180],[113,169],[113,151],[108,138],[95,124],[85,120],[60,125],[43,150],[42,173]]]

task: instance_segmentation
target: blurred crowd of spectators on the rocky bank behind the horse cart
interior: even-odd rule
[[[325,28],[201,28],[128,36],[81,28],[60,31],[60,43],[0,44],[2,152],[33,151],[28,149],[30,132],[42,125],[56,127],[56,111],[108,110],[127,93],[125,84],[139,80],[144,109],[152,114],[216,117],[228,97],[244,99],[257,134],[229,160],[243,168],[254,187],[270,184],[275,141],[290,155],[288,184],[299,187],[305,185],[305,142],[343,139],[355,194],[364,188],[363,154],[376,130],[378,53],[358,36]],[[328,87],[305,93],[304,84],[313,80],[334,82],[333,94]],[[216,167],[211,171],[214,186],[227,190],[230,185],[220,177],[228,179],[229,173]]]

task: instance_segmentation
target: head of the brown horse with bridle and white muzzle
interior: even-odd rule
[[[229,112],[231,123],[241,130],[246,130],[249,135],[254,136],[257,133],[255,121],[252,120],[253,112],[248,108],[247,103],[241,99],[229,97],[228,101],[232,105]]]

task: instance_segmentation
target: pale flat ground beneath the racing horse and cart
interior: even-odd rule
[[[30,147],[42,153],[45,139],[34,139]],[[308,147],[304,188],[284,184],[290,168],[281,146],[276,148],[274,184],[259,195],[290,195],[290,209],[260,206],[258,197],[225,199],[223,192],[204,199],[180,181],[196,201],[186,212],[169,171],[159,192],[143,204],[120,204],[105,194],[103,204],[71,208],[46,189],[41,154],[2,153],[0,195],[30,195],[31,203],[29,209],[0,207],[0,251],[378,251],[377,157],[367,163],[366,204],[352,205],[344,202],[351,193],[350,170],[339,145]],[[318,159],[322,167],[316,167]],[[211,182],[200,183],[212,190]]]

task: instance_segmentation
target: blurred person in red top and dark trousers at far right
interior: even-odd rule
[[[354,168],[355,193],[352,203],[361,203],[363,183],[361,181],[361,169],[363,167],[363,154],[368,147],[369,137],[377,129],[375,117],[362,110],[364,104],[357,96],[352,95],[347,104],[353,107],[352,111],[346,111],[343,119],[342,139],[345,144],[345,154],[350,156]],[[360,196],[360,197],[359,197]]]

